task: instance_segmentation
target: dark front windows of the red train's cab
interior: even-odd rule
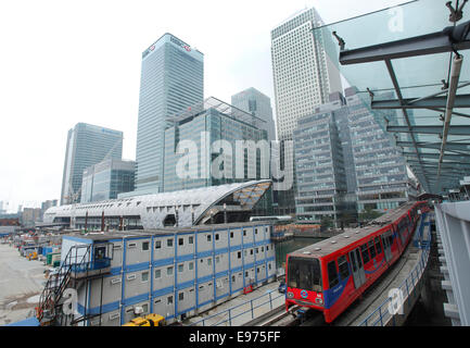
[[[290,257],[288,286],[309,291],[321,291],[320,262],[314,258]]]

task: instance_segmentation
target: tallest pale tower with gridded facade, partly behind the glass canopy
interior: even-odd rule
[[[271,60],[276,97],[278,139],[292,140],[297,120],[328,102],[330,92],[341,91],[334,42],[315,9],[303,10],[271,30]],[[329,35],[328,35],[329,34]],[[280,152],[281,165],[293,177],[293,187],[279,192],[279,212],[294,212],[296,175],[293,157]]]

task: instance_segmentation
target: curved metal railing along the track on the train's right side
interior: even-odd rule
[[[418,264],[405,278],[402,285],[394,289],[393,298],[388,297],[388,299],[370,313],[358,326],[384,326],[391,320],[392,325],[396,326],[396,314],[404,310],[405,303],[408,306],[408,309],[410,309],[412,306],[411,300],[415,301],[419,297],[421,287],[423,286],[419,281],[428,264],[431,247],[431,227],[429,227],[427,238],[422,239],[424,225],[430,224],[430,222],[425,222],[425,217],[427,215],[423,214],[419,226],[419,248],[422,249],[422,253]],[[419,289],[417,289],[417,287],[419,287]]]

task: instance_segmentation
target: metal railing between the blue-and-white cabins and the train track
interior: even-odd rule
[[[284,300],[285,300],[284,294],[277,293],[277,289],[272,289],[257,298],[233,306],[214,315],[204,318],[195,323],[190,324],[189,326],[240,326],[245,324],[250,320],[253,320],[264,314],[264,312],[262,312],[261,310],[262,307],[265,309],[272,310],[279,306],[282,306],[284,303]],[[256,313],[256,311],[258,313]],[[246,313],[251,313],[251,319],[249,321],[246,320],[243,321],[240,316]],[[217,320],[218,316],[225,316],[225,319],[207,325],[207,321]]]

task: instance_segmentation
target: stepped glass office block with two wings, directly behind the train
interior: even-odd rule
[[[300,220],[328,216],[340,227],[366,209],[384,212],[414,195],[403,156],[354,87],[298,120],[293,138]]]

